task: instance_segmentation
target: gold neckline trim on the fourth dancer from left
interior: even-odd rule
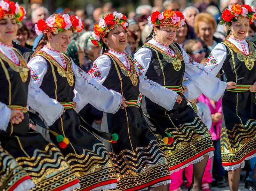
[[[159,51],[163,55],[164,60],[166,62],[172,63],[174,70],[179,71],[181,69],[181,62],[183,60],[182,54],[181,54],[179,48],[174,43],[172,43],[170,46],[173,49],[173,51],[175,52],[174,56],[167,54],[162,49],[160,49],[150,43],[145,43],[143,45],[143,47],[150,47],[150,48],[153,48],[153,49]]]

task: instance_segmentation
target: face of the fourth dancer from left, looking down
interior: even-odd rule
[[[161,42],[162,44],[169,46],[174,38],[176,37],[176,27],[163,27],[163,28],[156,28],[154,27],[155,38],[157,41]]]

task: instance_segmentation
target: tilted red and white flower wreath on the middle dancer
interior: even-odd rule
[[[117,26],[122,26],[124,29],[128,26],[127,19],[122,13],[116,11],[113,14],[108,14],[105,18],[100,18],[99,24],[94,24],[91,36],[92,43],[96,46],[102,46],[102,39],[106,34]]]

